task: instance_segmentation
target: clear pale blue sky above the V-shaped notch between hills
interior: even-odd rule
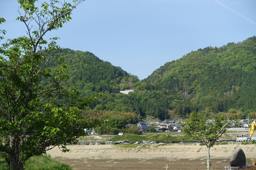
[[[18,6],[17,0],[0,2],[6,39],[26,34],[15,21]],[[256,35],[255,9],[256,0],[85,0],[69,23],[47,36],[58,36],[62,48],[90,51],[141,80],[190,51]]]

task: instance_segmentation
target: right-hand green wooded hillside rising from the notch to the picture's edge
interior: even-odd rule
[[[169,109],[185,116],[193,110],[245,114],[256,110],[256,37],[238,44],[191,51],[143,80],[174,95]]]

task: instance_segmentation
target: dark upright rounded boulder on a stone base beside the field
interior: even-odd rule
[[[245,166],[246,165],[246,158],[244,151],[238,147],[234,150],[234,152],[231,155],[230,158],[230,165],[232,167],[239,167],[239,166]]]

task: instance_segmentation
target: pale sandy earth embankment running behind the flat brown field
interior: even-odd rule
[[[230,159],[233,151],[241,147],[246,158],[255,158],[255,144],[229,143],[210,149],[211,159]],[[127,144],[127,145],[72,145],[70,152],[62,153],[58,147],[47,151],[52,157],[70,159],[206,159],[206,146],[200,144]]]

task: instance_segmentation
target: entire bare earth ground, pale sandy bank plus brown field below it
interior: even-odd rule
[[[203,170],[206,169],[206,146],[199,144],[151,144],[135,148],[123,148],[116,145],[78,145],[68,146],[71,151],[62,153],[58,147],[49,150],[55,159],[67,163],[74,170]],[[247,158],[256,157],[255,144],[238,143],[216,145],[210,149],[212,167],[224,170],[229,166],[233,151],[241,147]]]

